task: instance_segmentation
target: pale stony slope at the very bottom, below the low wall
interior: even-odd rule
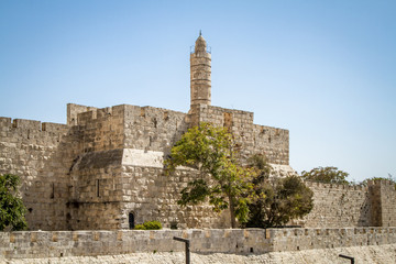
[[[396,263],[396,244],[389,245],[371,245],[371,246],[353,246],[339,248],[328,250],[309,250],[295,252],[273,252],[262,255],[235,255],[235,254],[197,254],[191,253],[191,263],[194,264],[240,264],[240,263],[351,263],[349,260],[339,257],[344,254],[355,257],[356,264],[362,263]],[[50,258],[24,258],[24,260],[6,260],[1,258],[0,263],[7,264],[82,264],[82,263],[153,263],[153,264],[183,264],[185,263],[184,252],[161,252],[161,253],[134,253],[128,255],[113,256],[67,256],[67,257],[50,257]]]

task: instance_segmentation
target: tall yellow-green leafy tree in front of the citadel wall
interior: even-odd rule
[[[177,166],[188,166],[200,172],[198,178],[182,190],[180,206],[197,205],[209,198],[215,211],[230,209],[231,227],[248,221],[252,189],[252,170],[241,167],[234,161],[232,136],[224,128],[209,123],[189,129],[172,147],[170,157],[165,161],[168,172]]]

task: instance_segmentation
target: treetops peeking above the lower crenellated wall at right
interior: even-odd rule
[[[349,185],[346,180],[348,173],[338,169],[337,167],[317,167],[310,172],[302,172],[301,177],[305,180],[319,182],[324,184],[342,184]]]

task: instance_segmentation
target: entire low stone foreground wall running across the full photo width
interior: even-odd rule
[[[262,254],[395,244],[396,228],[0,232],[0,255],[29,258],[184,251],[184,243],[174,237],[189,239],[196,253]]]

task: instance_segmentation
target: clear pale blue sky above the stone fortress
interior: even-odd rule
[[[0,116],[66,103],[187,112],[189,51],[212,51],[212,105],[290,131],[298,172],[396,176],[396,1],[0,1]]]

